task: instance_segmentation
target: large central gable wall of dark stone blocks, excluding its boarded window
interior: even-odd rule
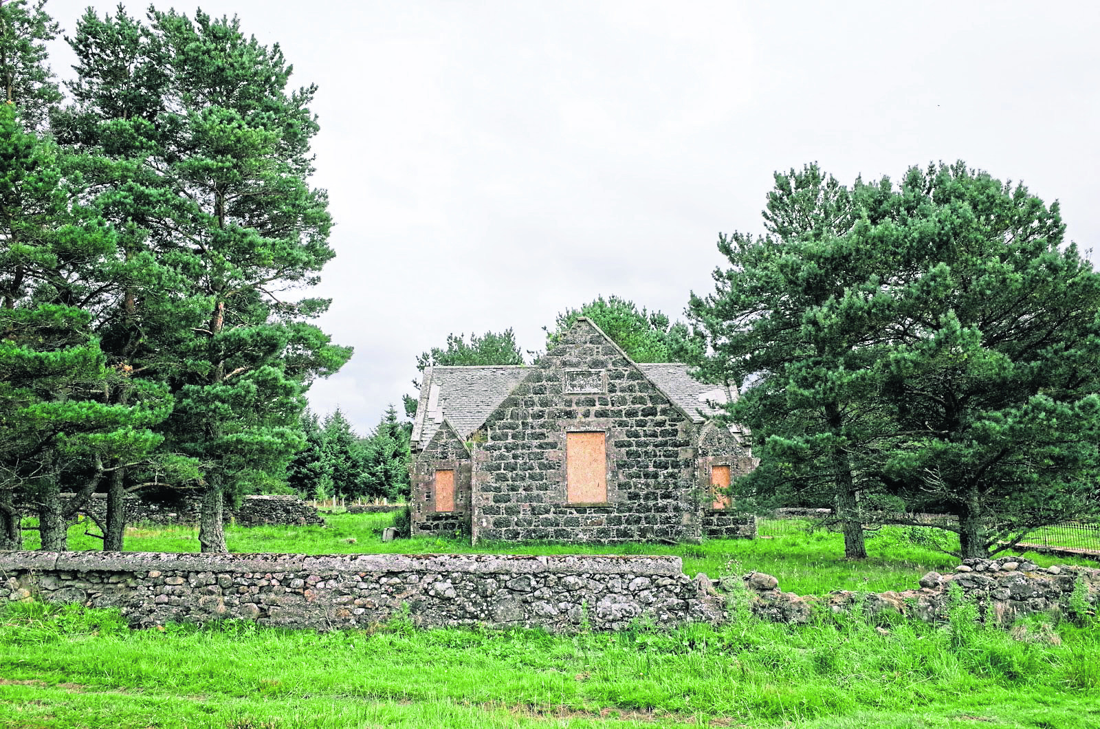
[[[484,425],[473,541],[698,542],[694,426],[598,329],[579,322]],[[566,501],[565,439],[606,433],[607,501]]]

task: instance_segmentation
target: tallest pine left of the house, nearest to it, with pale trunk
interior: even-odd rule
[[[109,162],[100,202],[128,255],[172,282],[135,285],[116,353],[170,385],[165,445],[201,464],[200,545],[224,551],[226,500],[284,478],[305,389],[350,356],[308,323],[327,301],[280,293],[332,257],[327,196],[307,183],[315,89],[288,89],[278,46],[201,12],[89,12],[72,44],[81,77],[61,133]]]

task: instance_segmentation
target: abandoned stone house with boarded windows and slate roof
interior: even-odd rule
[[[586,318],[530,367],[425,370],[414,534],[608,544],[752,536],[721,490],[756,465],[712,420],[728,392],[639,364]]]

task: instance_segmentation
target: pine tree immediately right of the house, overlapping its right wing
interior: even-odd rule
[[[761,458],[741,488],[772,503],[825,498],[856,559],[867,556],[859,499],[877,488],[866,457],[882,424],[866,401],[868,368],[891,316],[883,284],[895,266],[889,249],[860,247],[851,233],[881,195],[858,182],[848,189],[816,165],[777,173],[768,235],[722,236],[730,268],[689,306],[707,340],[701,377],[755,383],[728,407]]]

